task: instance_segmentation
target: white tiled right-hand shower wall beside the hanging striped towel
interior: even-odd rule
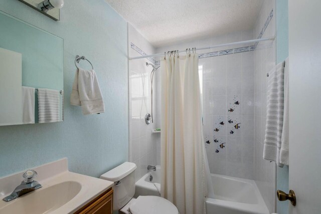
[[[273,17],[262,37],[275,35],[275,1],[265,0],[253,30],[258,37],[267,17]],[[266,74],[275,65],[275,41],[260,42],[254,51],[254,179],[270,212],[275,211],[276,166],[263,160],[263,144],[266,124]]]

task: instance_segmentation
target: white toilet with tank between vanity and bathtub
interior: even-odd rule
[[[135,194],[135,163],[124,162],[100,176],[114,182],[113,209],[120,214],[179,214],[177,207],[169,200],[153,195]]]

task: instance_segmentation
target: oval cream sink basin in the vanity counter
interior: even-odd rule
[[[64,181],[52,186],[42,187],[19,198],[7,202],[0,213],[48,213],[74,198],[81,190],[76,181]]]

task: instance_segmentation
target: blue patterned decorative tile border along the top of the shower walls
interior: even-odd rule
[[[270,21],[271,21],[272,18],[273,18],[273,9],[270,12],[268,18],[266,19],[266,21],[264,23],[264,26],[263,26],[259,36],[257,37],[257,39],[261,39],[262,38],[262,36],[263,36],[267,26],[270,24]],[[200,54],[199,55],[199,59],[208,58],[208,57],[217,57],[217,56],[223,56],[223,55],[229,55],[229,54],[237,54],[237,53],[243,53],[243,52],[248,52],[248,51],[254,51],[258,43],[259,42],[256,42],[252,46],[246,46],[246,47],[241,47],[241,48],[227,49],[227,50],[222,50],[222,51],[215,51],[215,52],[209,52],[209,53],[205,53],[205,54]],[[140,50],[134,44],[130,43],[130,47],[132,49],[134,49],[137,53],[139,53],[141,56],[147,56],[147,54],[145,52]],[[160,61],[156,61],[151,57],[148,57],[147,60],[152,62],[154,65],[161,65]]]

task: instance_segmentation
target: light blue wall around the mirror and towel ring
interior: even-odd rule
[[[65,90],[65,122],[0,127],[0,176],[67,157],[70,171],[98,177],[126,161],[126,22],[103,0],[65,1],[59,22],[17,0],[0,1],[0,10],[64,39]],[[83,116],[80,107],[69,104],[77,54],[93,63],[103,114]]]

